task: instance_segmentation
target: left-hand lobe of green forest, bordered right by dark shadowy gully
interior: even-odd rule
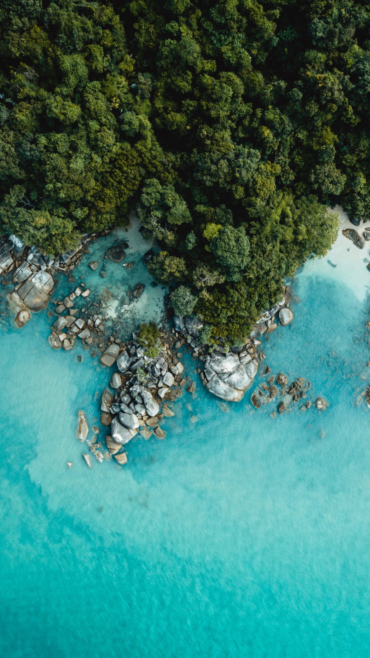
[[[147,118],[151,80],[135,78],[111,7],[60,0],[18,11],[7,1],[0,230],[44,253],[64,251],[79,230],[124,224],[147,161],[153,172],[163,160]]]

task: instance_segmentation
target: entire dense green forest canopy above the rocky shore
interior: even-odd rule
[[[44,253],[136,208],[173,305],[228,343],[370,219],[370,5],[3,0],[0,230]]]

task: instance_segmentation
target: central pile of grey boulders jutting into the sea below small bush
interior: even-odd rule
[[[161,424],[165,417],[174,416],[171,404],[182,395],[184,384],[188,384],[188,392],[194,392],[195,382],[180,378],[184,367],[172,351],[185,344],[184,340],[179,340],[178,334],[161,334],[156,357],[145,355],[136,341],[136,334],[127,343],[116,340],[107,346],[100,357],[103,367],[117,367],[111,374],[110,388],[106,388],[101,395],[101,424],[111,428],[110,434],[105,437],[109,453],[102,452],[104,447],[101,442],[88,442],[88,445],[97,461],[102,462],[114,455],[122,465],[127,461],[126,453],[121,451],[122,445],[126,445],[138,432],[145,439],[152,434],[157,439],[165,438]],[[88,436],[86,416],[79,411],[78,418],[78,438],[84,441]],[[83,456],[91,467],[90,455]]]

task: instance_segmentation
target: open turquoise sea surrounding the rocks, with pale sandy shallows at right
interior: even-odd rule
[[[308,378],[327,411],[272,418],[277,405],[220,403],[198,380],[125,467],[88,469],[75,438],[108,370],[50,349],[47,311],[5,321],[2,658],[368,658],[368,251],[340,238],[307,263],[294,322],[265,343],[273,372]]]

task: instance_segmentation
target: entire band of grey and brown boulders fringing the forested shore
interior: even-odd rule
[[[69,276],[69,282],[75,282],[72,272],[84,254],[89,253],[88,242],[94,238],[84,236],[78,250],[57,259],[45,259],[33,248],[23,247],[22,253],[19,253],[21,245],[17,247],[11,241],[3,242],[0,274],[3,274],[3,284],[6,285],[10,283],[9,275],[13,272],[14,290],[8,299],[16,326],[24,326],[30,320],[31,313],[45,308],[53,293],[53,274],[57,269]],[[111,247],[105,258],[120,262],[125,256],[120,247],[122,245]],[[95,270],[99,263],[92,261],[89,265]],[[131,265],[128,263],[127,267]],[[100,274],[103,276],[104,269]],[[140,297],[143,290],[144,285],[137,284],[130,303]],[[185,391],[192,394],[196,390],[196,382],[189,375],[184,376],[184,366],[180,361],[184,349],[190,349],[192,357],[198,360],[196,372],[203,386],[223,401],[238,402],[247,390],[251,390],[250,402],[255,409],[270,405],[273,401],[277,403],[277,408],[271,413],[275,417],[277,413],[290,411],[294,403],[307,398],[310,385],[304,378],[297,377],[288,386],[284,374],[280,372],[275,376],[271,368],[265,365],[263,334],[271,334],[278,325],[287,326],[294,319],[289,287],[286,287],[280,303],[267,309],[257,320],[244,345],[230,349],[222,343],[212,347],[203,345],[199,340],[203,326],[201,320],[196,316],[174,316],[173,322],[167,322],[167,328],[160,330],[155,357],[147,355],[135,332],[131,340],[122,340],[117,318],[113,318],[108,328],[107,318],[101,309],[102,302],[91,301],[89,297],[89,288],[80,281],[63,299],[55,300],[54,313],[57,318],[48,338],[50,347],[56,350],[63,347],[65,351],[72,350],[76,340],[80,340],[84,349],[90,349],[93,358],[99,356],[101,367],[116,367],[111,374],[109,388],[105,388],[101,396],[101,425],[110,428],[105,440],[97,440],[100,433],[97,426],[92,427],[95,439],[88,439],[86,415],[82,410],[78,412],[77,437],[90,447],[90,453],[83,453],[89,467],[92,467],[90,454],[99,463],[114,456],[119,465],[124,465],[127,456],[122,447],[137,434],[145,440],[151,436],[159,440],[165,438],[162,426],[166,417],[174,416],[171,409],[174,401]],[[54,313],[49,311],[49,317],[53,317]],[[259,382],[253,386],[257,374]],[[301,411],[307,411],[312,402],[305,399]],[[327,403],[320,397],[315,401],[315,406],[325,410]],[[68,462],[68,466],[71,467],[72,463]]]

